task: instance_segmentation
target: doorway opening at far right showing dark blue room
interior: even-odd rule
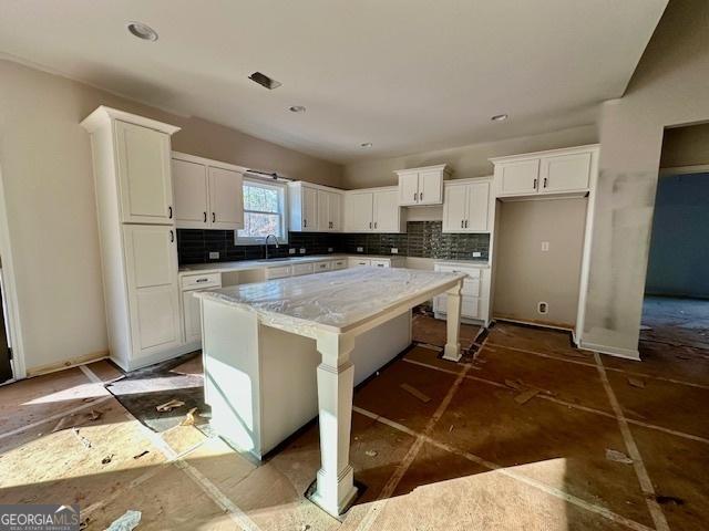
[[[709,124],[665,131],[640,350],[709,354]]]

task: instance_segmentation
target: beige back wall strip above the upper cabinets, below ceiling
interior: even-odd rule
[[[502,125],[504,127],[504,125]],[[520,153],[541,152],[561,147],[580,146],[598,142],[595,125],[525,136],[508,140],[472,144],[436,152],[425,152],[404,157],[386,158],[350,164],[345,167],[343,185],[346,188],[368,188],[397,184],[394,170],[417,168],[446,163],[453,168],[453,178],[484,177],[492,175],[492,157],[516,155]]]

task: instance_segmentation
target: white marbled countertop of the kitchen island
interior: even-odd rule
[[[305,277],[233,285],[196,293],[204,300],[254,311],[267,325],[300,335],[342,333],[388,311],[405,311],[465,278],[413,269],[352,268]]]

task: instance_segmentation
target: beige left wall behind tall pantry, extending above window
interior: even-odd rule
[[[183,127],[178,150],[339,186],[341,167],[0,61],[0,170],[29,369],[106,350],[89,135],[100,104]],[[7,257],[2,257],[7,261]]]

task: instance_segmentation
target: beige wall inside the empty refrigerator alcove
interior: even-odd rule
[[[500,202],[493,313],[576,324],[586,198]],[[548,241],[548,251],[542,242]],[[548,303],[548,314],[537,303]]]

